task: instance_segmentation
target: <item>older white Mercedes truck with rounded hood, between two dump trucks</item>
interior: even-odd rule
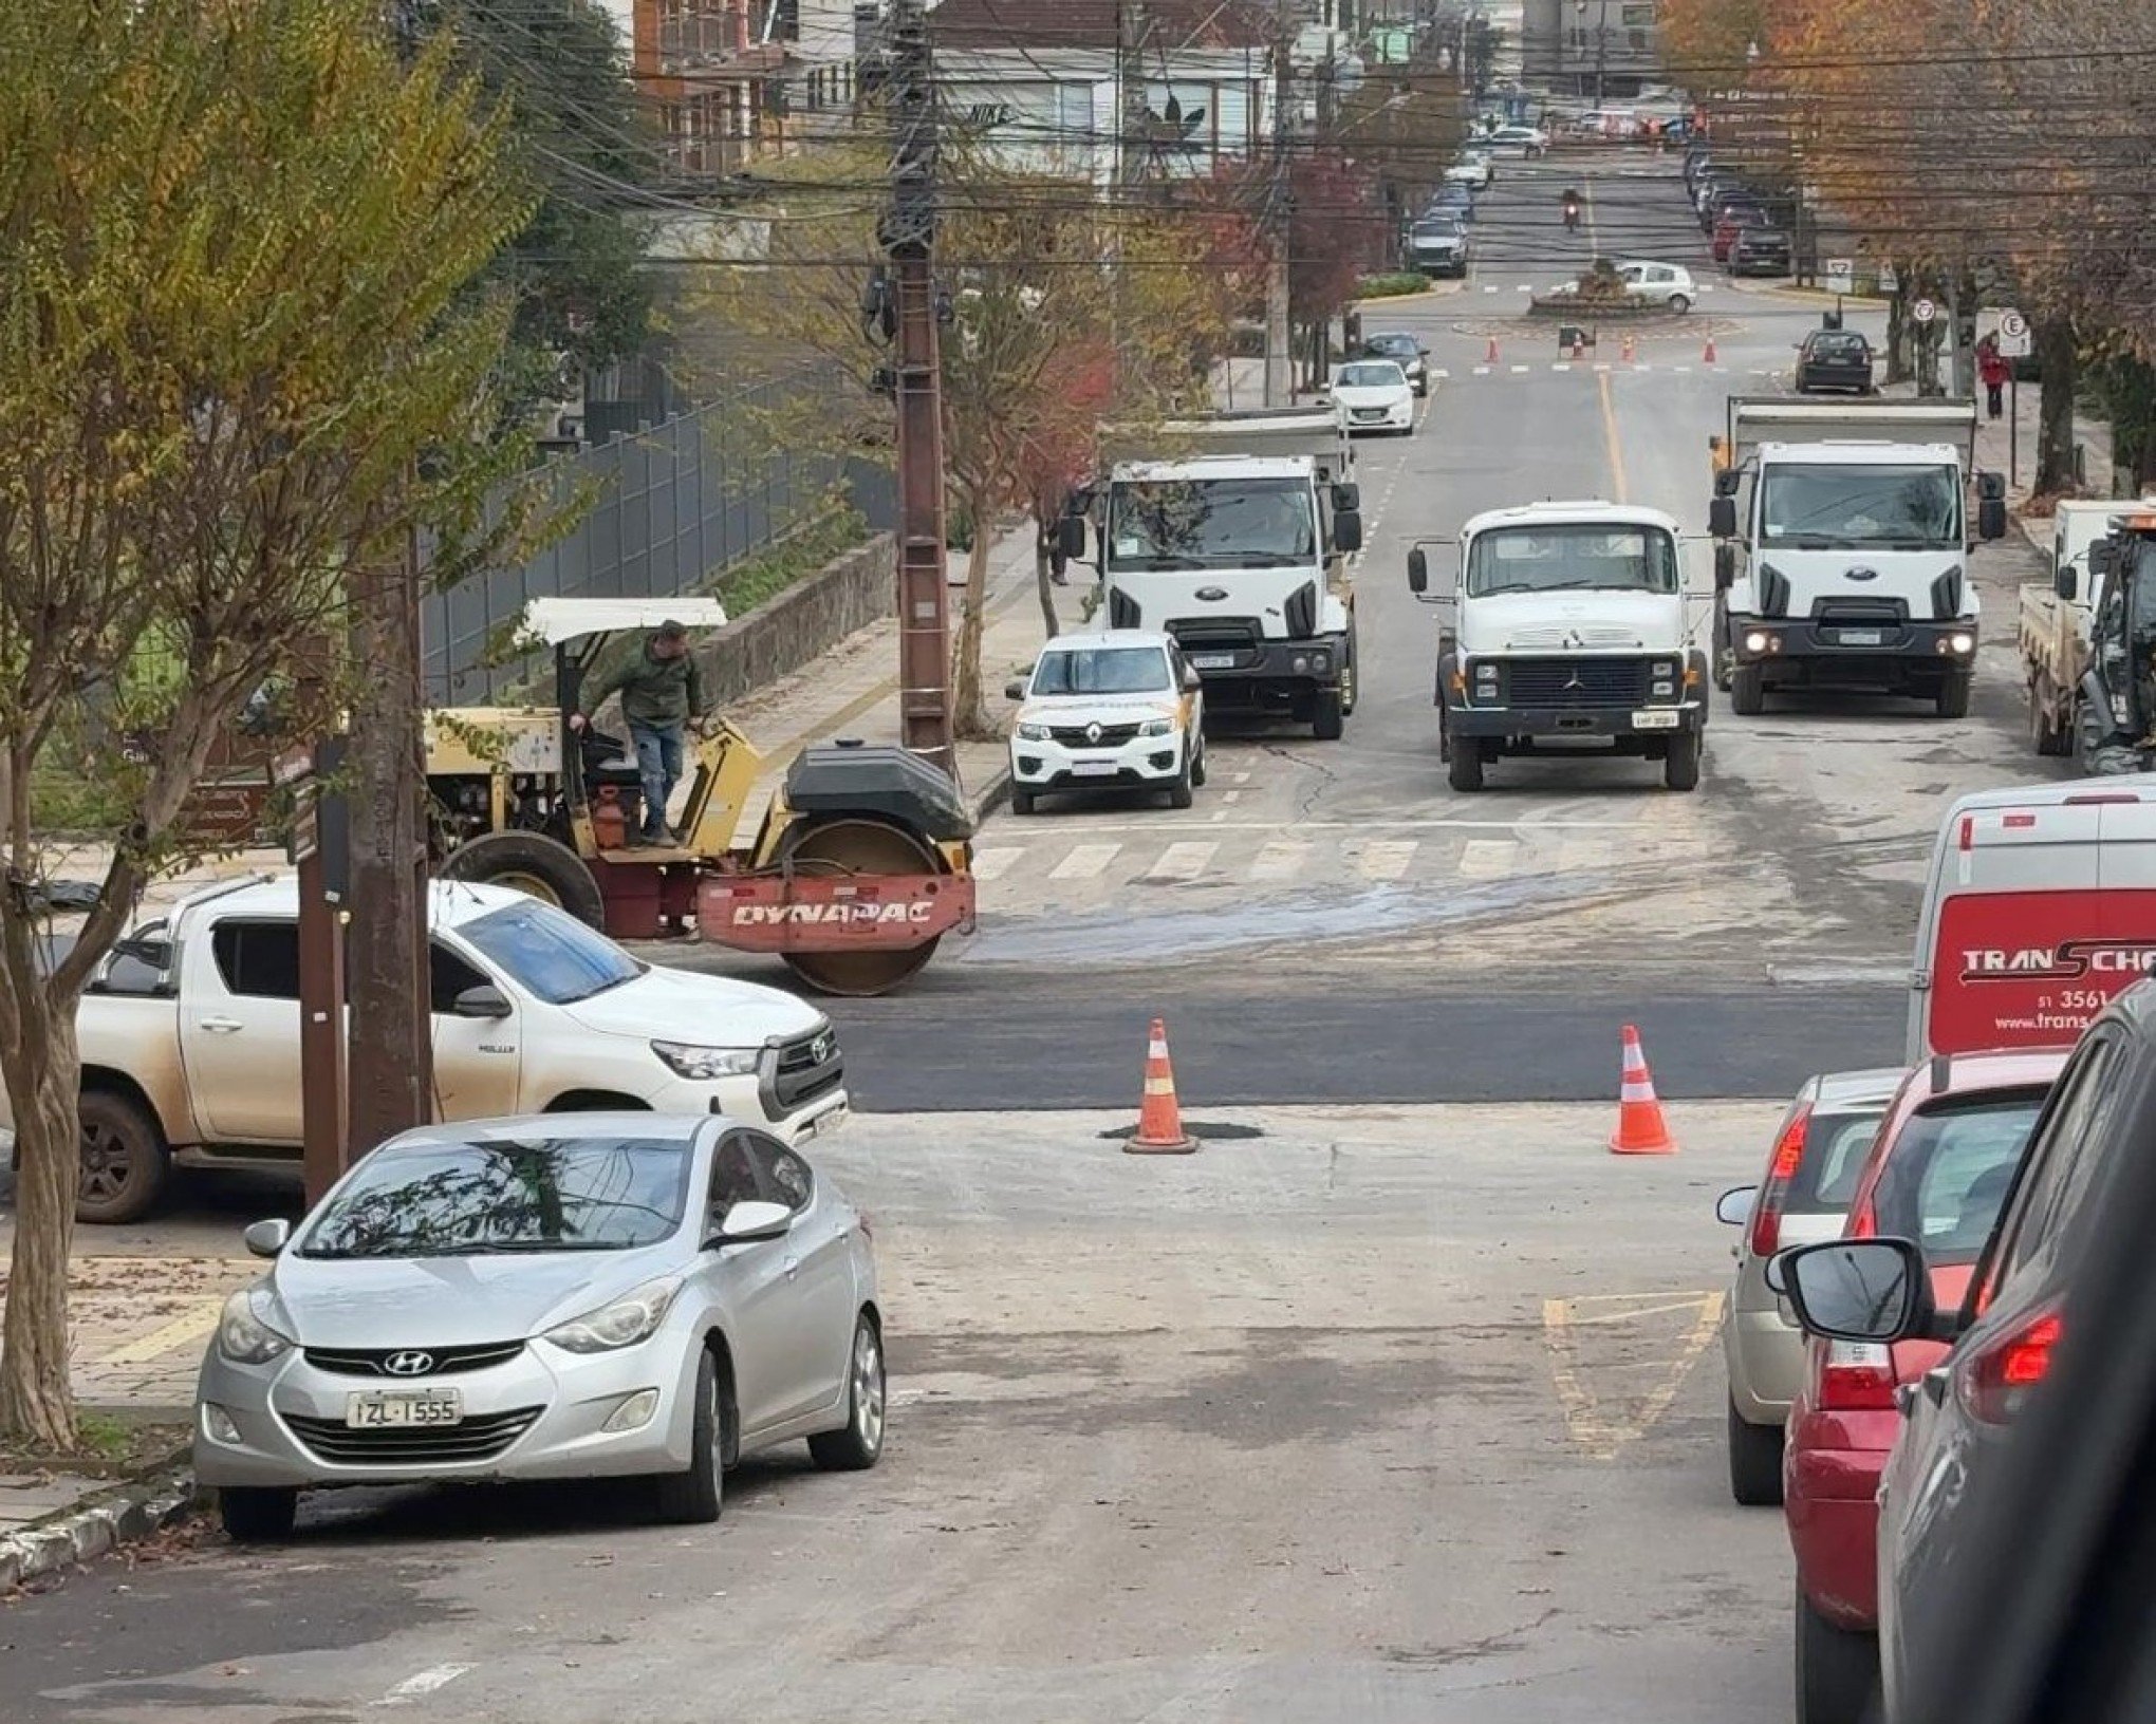
[[[1503,754],[1600,750],[1699,787],[1708,657],[1692,646],[1677,522],[1628,504],[1492,509],[1460,530],[1460,578],[1432,590],[1423,545],[1408,588],[1453,608],[1438,631],[1438,754],[1479,791]]]

